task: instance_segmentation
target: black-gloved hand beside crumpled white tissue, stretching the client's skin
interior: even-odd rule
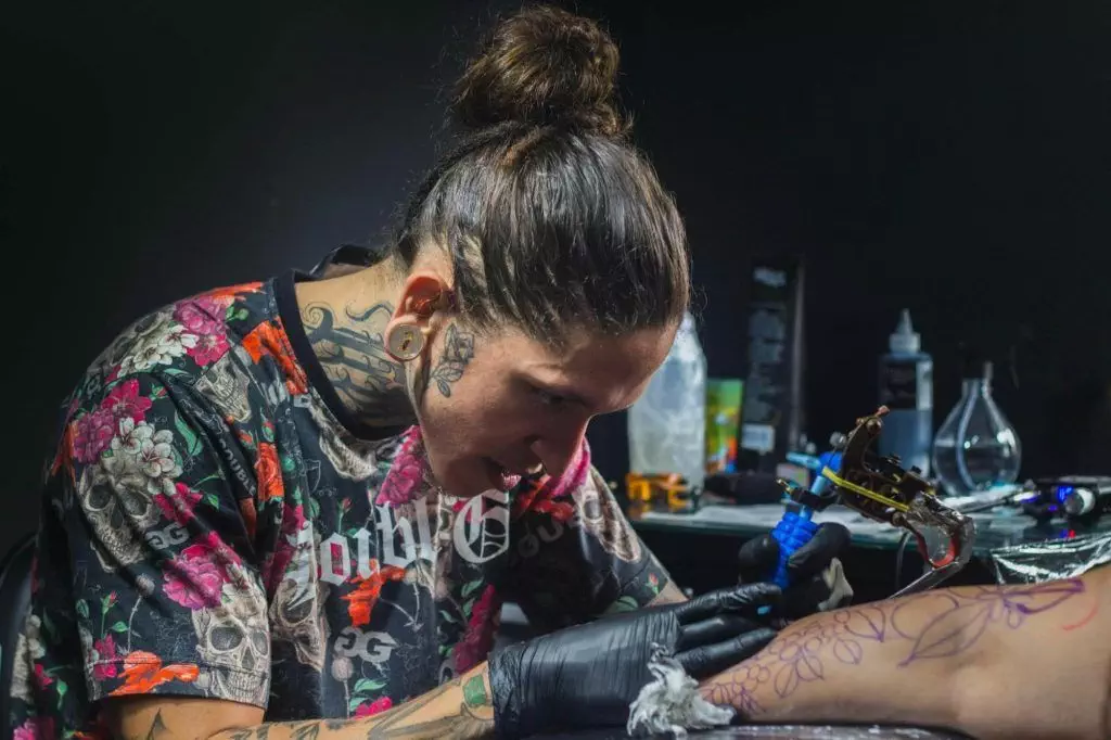
[[[709,678],[775,637],[757,621],[757,611],[779,596],[771,583],[737,586],[512,644],[489,661],[497,736],[624,727],[629,704],[652,680],[652,643],[670,651],[692,678]]]

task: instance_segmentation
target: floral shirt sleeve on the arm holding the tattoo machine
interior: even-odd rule
[[[513,499],[508,593],[546,630],[648,606],[671,577],[621,511],[585,442],[561,480]]]

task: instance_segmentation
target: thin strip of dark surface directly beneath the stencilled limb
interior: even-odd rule
[[[747,724],[718,730],[692,731],[707,740],[964,740],[968,736],[947,730],[883,724]],[[567,734],[537,736],[534,740],[628,740],[623,729],[585,730]],[[672,738],[674,736],[652,736]]]

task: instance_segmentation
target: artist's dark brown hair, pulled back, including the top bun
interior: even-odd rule
[[[463,316],[559,343],[678,321],[687,239],[628,141],[618,49],[591,20],[533,7],[501,21],[457,83],[462,134],[404,212],[394,251],[447,248]]]

